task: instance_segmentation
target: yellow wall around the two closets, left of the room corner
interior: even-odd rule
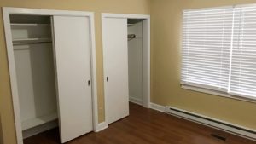
[[[24,7],[34,9],[64,9],[93,11],[96,25],[96,65],[99,122],[104,121],[102,77],[102,29],[101,13],[149,14],[149,0],[1,0],[0,7]],[[0,12],[0,112],[3,140],[15,144],[15,124],[9,83],[9,71],[3,32],[3,16]]]

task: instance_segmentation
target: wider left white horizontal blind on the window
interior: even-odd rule
[[[233,9],[183,12],[182,84],[227,91]]]

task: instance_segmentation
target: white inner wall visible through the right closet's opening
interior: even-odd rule
[[[128,41],[130,100],[143,104],[143,22],[129,26],[128,34],[136,34]]]

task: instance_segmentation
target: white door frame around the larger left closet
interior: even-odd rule
[[[15,71],[15,55],[12,42],[10,14],[28,14],[28,15],[45,15],[45,16],[82,16],[88,17],[90,20],[90,66],[91,66],[91,95],[92,95],[92,121],[93,130],[100,131],[101,124],[98,123],[98,107],[97,107],[97,84],[96,84],[96,42],[95,42],[95,25],[94,13],[85,11],[70,11],[70,10],[51,10],[51,9],[26,9],[26,8],[11,8],[3,7],[3,25],[5,32],[6,48],[9,64],[9,78],[11,95],[13,101],[14,117],[15,117],[15,134],[17,144],[23,144],[21,119],[20,119],[20,104],[18,95],[17,78]]]

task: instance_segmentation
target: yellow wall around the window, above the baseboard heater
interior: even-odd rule
[[[152,0],[152,102],[256,129],[256,104],[180,88],[183,9],[256,3],[255,0]]]

